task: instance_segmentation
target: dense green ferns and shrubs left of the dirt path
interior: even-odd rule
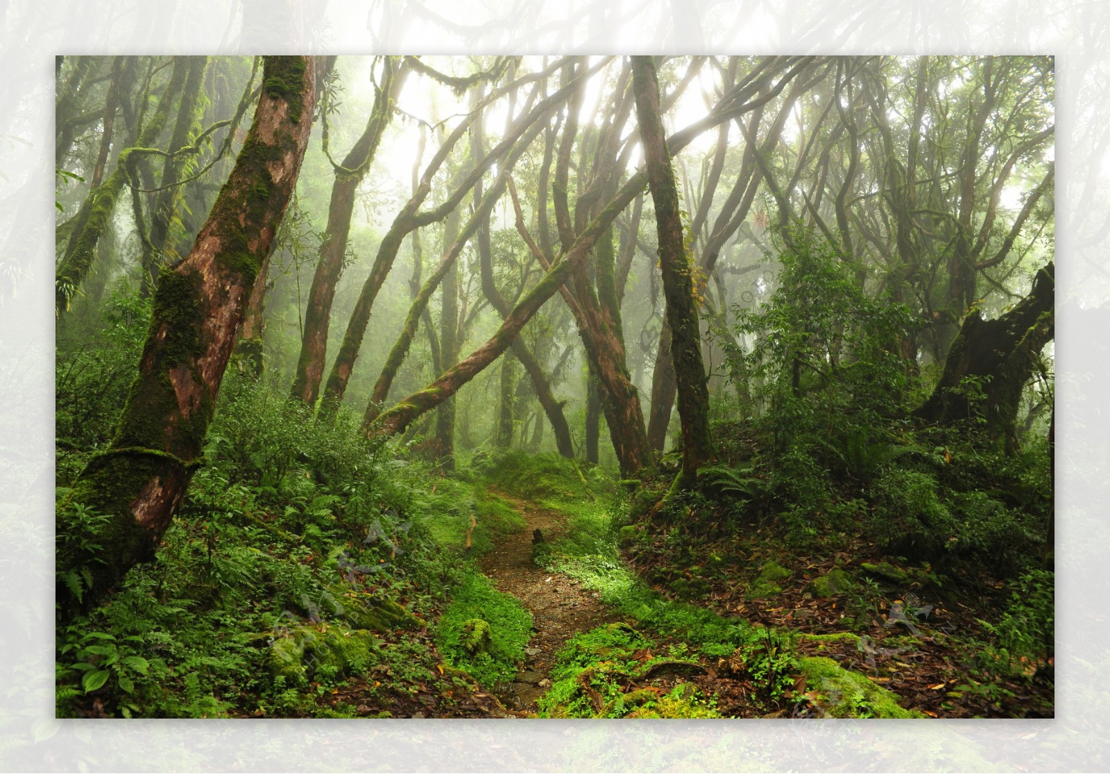
[[[428,702],[448,715],[475,690],[452,663],[501,679],[531,620],[473,558],[522,517],[357,425],[314,420],[230,368],[205,465],[154,560],[59,628],[57,714],[346,716],[355,706],[330,697],[353,693],[386,715]],[[62,430],[74,458],[104,438]],[[59,498],[75,470],[60,466]],[[94,540],[101,515],[70,516],[81,530],[59,543]],[[59,582],[80,590],[82,568],[60,567]],[[476,654],[458,650],[467,610],[490,625]]]

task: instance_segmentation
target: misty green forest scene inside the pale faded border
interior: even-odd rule
[[[58,717],[1052,717],[1051,57],[58,57]]]

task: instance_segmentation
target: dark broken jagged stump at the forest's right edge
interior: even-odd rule
[[[1029,295],[997,319],[983,320],[978,312],[968,315],[948,352],[940,381],[916,416],[937,425],[983,420],[992,438],[1005,440],[1008,454],[1017,451],[1015,420],[1021,390],[1053,335],[1054,273],[1053,263],[1040,269]]]

